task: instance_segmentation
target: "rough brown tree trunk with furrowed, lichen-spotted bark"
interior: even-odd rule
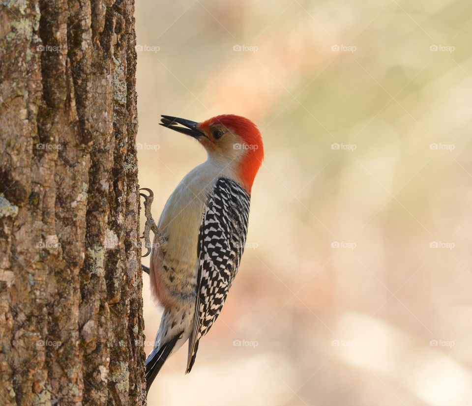
[[[1,405],[146,402],[133,12],[1,2]]]

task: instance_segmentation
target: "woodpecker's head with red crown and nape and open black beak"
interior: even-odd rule
[[[256,124],[233,114],[215,116],[202,122],[161,117],[161,125],[197,139],[211,160],[222,168],[234,169],[246,191],[251,193],[264,158],[264,144]]]

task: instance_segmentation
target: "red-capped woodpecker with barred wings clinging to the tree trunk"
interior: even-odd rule
[[[261,133],[245,117],[221,115],[200,123],[161,117],[160,125],[203,145],[207,161],[183,177],[157,227],[152,218],[147,221],[144,235],[149,229],[155,233],[150,287],[164,307],[146,360],[147,390],[167,358],[187,340],[186,373],[191,371],[200,339],[220,314],[244,251],[251,188],[264,157]]]

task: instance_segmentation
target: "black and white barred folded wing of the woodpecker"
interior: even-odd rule
[[[233,180],[219,178],[208,197],[198,241],[198,290],[187,372],[198,341],[218,317],[235,278],[246,242],[250,197]]]

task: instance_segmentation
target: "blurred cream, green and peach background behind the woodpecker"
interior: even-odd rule
[[[149,405],[472,404],[471,19],[465,0],[136,2],[154,217],[206,159],[161,114],[247,116],[266,150],[223,311]]]

